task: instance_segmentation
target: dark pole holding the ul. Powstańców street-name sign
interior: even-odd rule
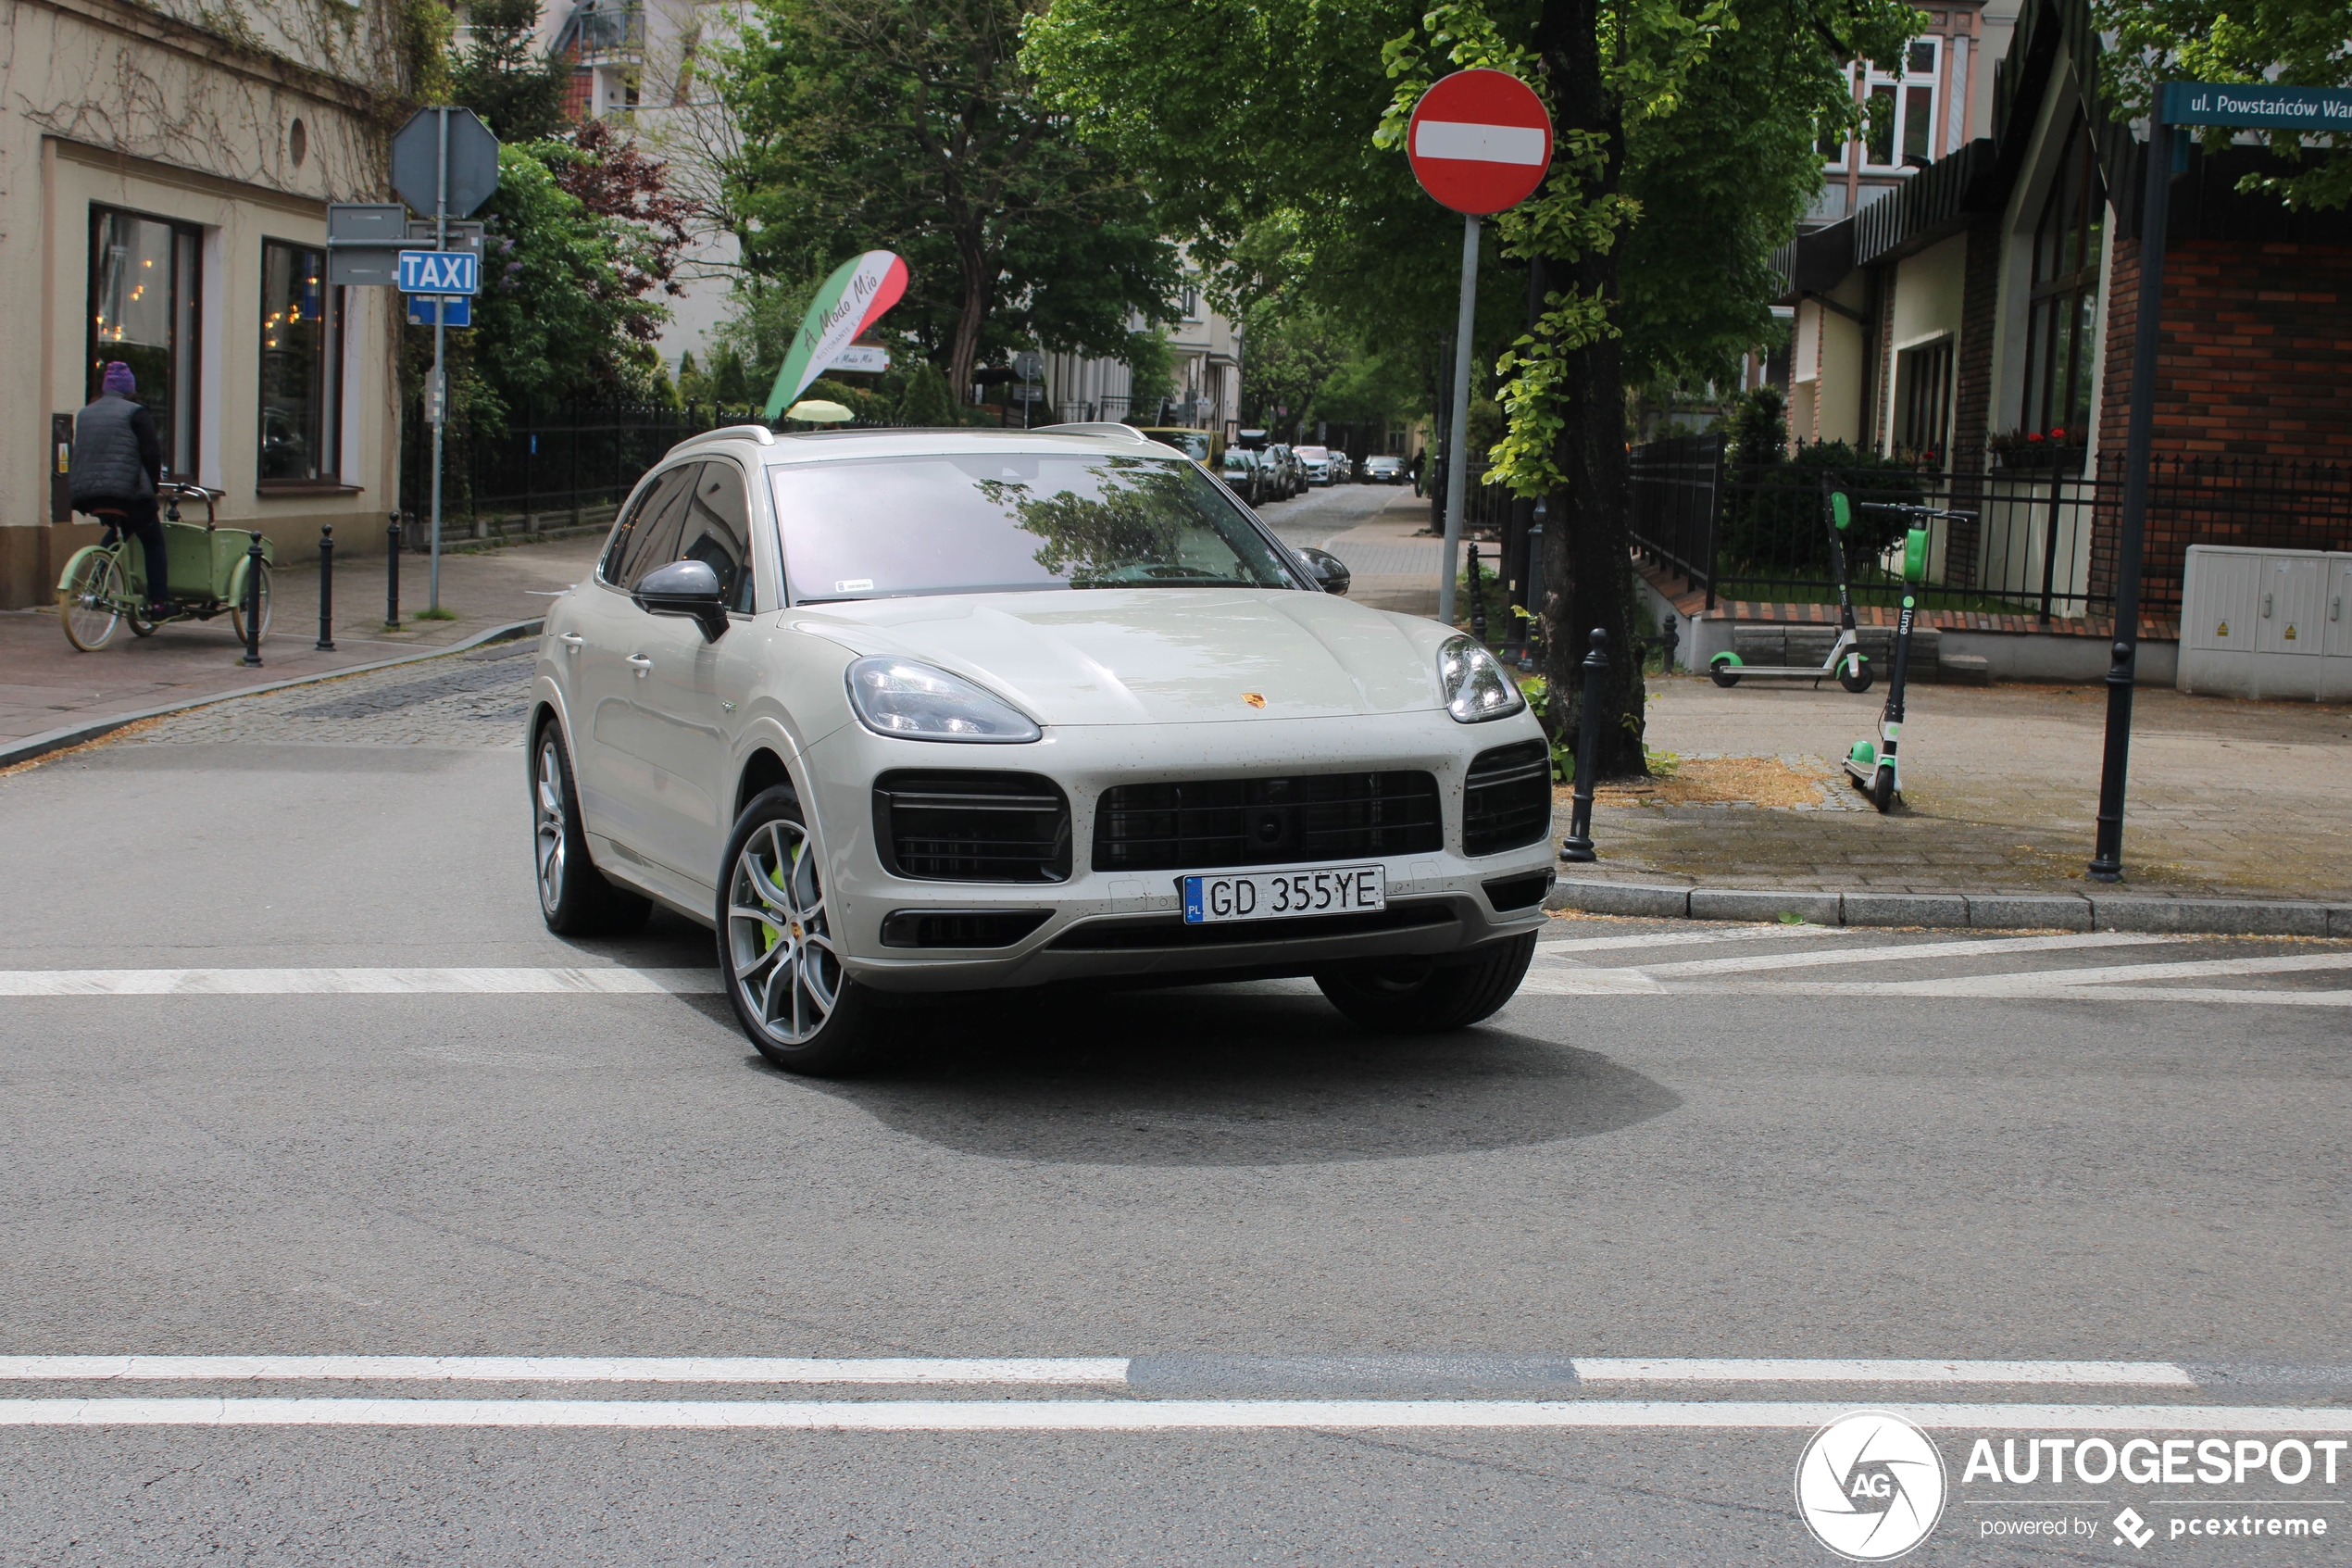
[[[2131,322],[2131,423],[2124,430],[2124,538],[2114,574],[2114,649],[2107,665],[2107,757],[2098,778],[2091,882],[2124,879],[2124,776],[2131,766],[2131,682],[2140,658],[2140,548],[2147,536],[2147,447],[2157,425],[2157,343],[2164,315],[2164,226],[2173,139],[2164,101],[2147,118],[2147,188],[2140,195],[2140,282]]]

